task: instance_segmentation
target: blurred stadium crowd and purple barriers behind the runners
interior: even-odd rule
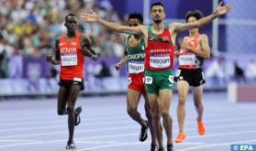
[[[66,32],[64,17],[79,16],[92,8],[98,16],[121,25],[128,25],[128,14],[139,12],[144,24],[150,25],[150,4],[156,0],[1,0],[0,3],[0,97],[48,96],[58,92],[59,66],[51,66],[45,55],[54,53],[55,38]],[[218,0],[161,0],[167,14],[165,24],[184,22],[187,11],[200,10],[205,16],[214,12]],[[233,5],[231,13],[217,18],[199,32],[209,38],[211,59],[203,69],[206,91],[226,91],[228,83],[256,82],[256,5],[255,0],[223,1]],[[115,70],[123,54],[123,38],[96,23],[80,20],[78,31],[93,42],[97,62],[85,59],[83,95],[127,91],[127,71]],[[177,49],[188,32],[177,37]],[[219,63],[220,62],[220,63]],[[235,75],[237,62],[243,75]],[[175,59],[174,70],[178,63]]]

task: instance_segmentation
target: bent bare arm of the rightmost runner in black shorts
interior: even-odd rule
[[[196,55],[204,58],[204,59],[209,59],[210,58],[210,48],[208,44],[208,37],[203,34],[198,38],[199,46],[200,49],[195,49],[191,47],[188,42],[183,43],[183,48],[184,49],[189,49],[193,51]]]

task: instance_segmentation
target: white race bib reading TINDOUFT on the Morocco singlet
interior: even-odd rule
[[[150,55],[151,68],[167,68],[171,65],[169,54],[164,55]]]

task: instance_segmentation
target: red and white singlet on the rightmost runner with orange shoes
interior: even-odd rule
[[[200,34],[196,35],[195,38],[193,38],[191,41],[188,42],[188,44],[195,48],[195,49],[200,49],[198,44],[197,44],[197,39],[200,37]],[[188,38],[184,38],[184,42],[187,42]],[[203,63],[204,63],[203,58],[201,58],[200,56],[195,55],[194,52],[192,52],[189,49],[184,49],[183,48],[183,44],[181,46],[180,49],[180,57],[179,57],[179,66],[182,69],[188,69],[188,70],[192,70],[192,69],[198,69],[200,68]]]

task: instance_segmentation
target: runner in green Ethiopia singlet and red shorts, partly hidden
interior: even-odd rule
[[[143,25],[143,16],[139,13],[132,13],[128,16],[129,27],[138,27]],[[125,52],[122,59],[116,64],[116,69],[127,62],[128,66],[128,115],[141,125],[139,141],[144,142],[148,137],[148,129],[151,134],[150,151],[157,151],[157,142],[152,129],[152,116],[150,112],[150,102],[144,86],[144,39],[140,35],[128,35],[125,38]],[[145,111],[148,121],[141,118],[138,112],[138,104],[141,94],[145,99]]]

